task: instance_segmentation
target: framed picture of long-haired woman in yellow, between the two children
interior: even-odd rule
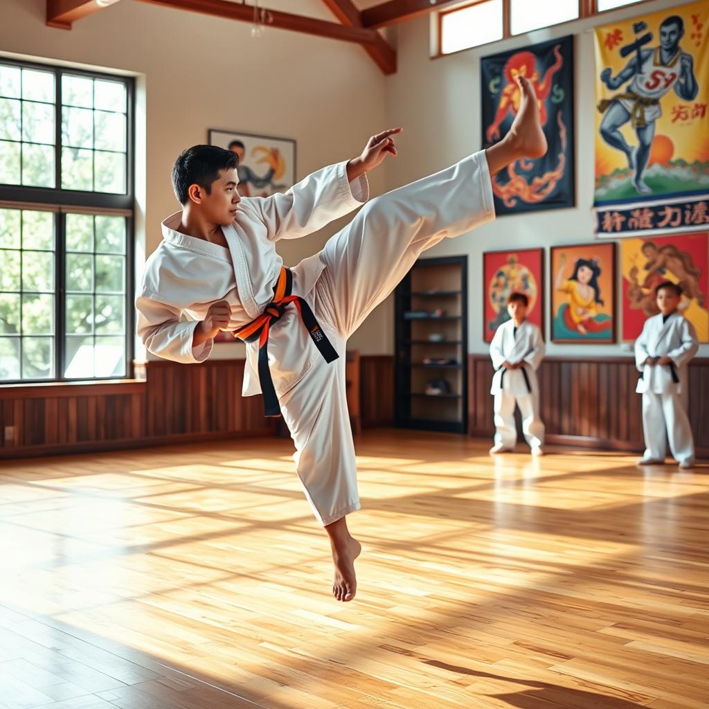
[[[552,246],[552,342],[615,342],[615,243]]]

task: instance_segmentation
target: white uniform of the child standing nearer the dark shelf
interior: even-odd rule
[[[539,418],[537,368],[544,358],[544,340],[537,325],[525,320],[515,335],[514,320],[500,325],[490,343],[490,357],[496,372],[490,393],[495,397],[495,443],[513,448],[517,442],[515,404],[522,414],[522,430],[530,447],[544,443],[544,423]],[[524,362],[520,369],[506,369],[502,363]]]

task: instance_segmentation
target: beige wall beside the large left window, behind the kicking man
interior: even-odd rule
[[[174,158],[206,143],[208,128],[295,138],[298,179],[358,155],[369,135],[384,128],[384,75],[358,45],[274,28],[253,39],[248,23],[133,0],[70,31],[45,25],[45,0],[2,0],[1,6],[0,55],[139,77],[137,122],[145,133],[136,150],[145,184],[138,185],[138,240],[147,253],[160,242],[160,221],[178,208],[170,185]],[[321,0],[272,0],[269,7],[335,21]],[[374,194],[383,191],[384,170],[371,183]],[[284,243],[279,251],[286,264],[319,250],[335,227]],[[373,329],[372,340],[384,342],[380,326],[367,323],[353,346],[366,350]],[[218,357],[242,352],[241,345],[216,348]]]

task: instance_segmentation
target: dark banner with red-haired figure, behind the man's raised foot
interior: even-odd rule
[[[535,87],[549,150],[538,160],[518,160],[493,176],[495,211],[500,216],[574,206],[574,38],[483,57],[486,147],[503,138],[512,125],[520,106],[518,75]]]

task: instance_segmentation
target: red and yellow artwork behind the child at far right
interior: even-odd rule
[[[628,238],[620,242],[623,274],[623,340],[635,340],[645,320],[659,313],[655,289],[672,281],[682,289],[679,310],[709,342],[709,235]]]

